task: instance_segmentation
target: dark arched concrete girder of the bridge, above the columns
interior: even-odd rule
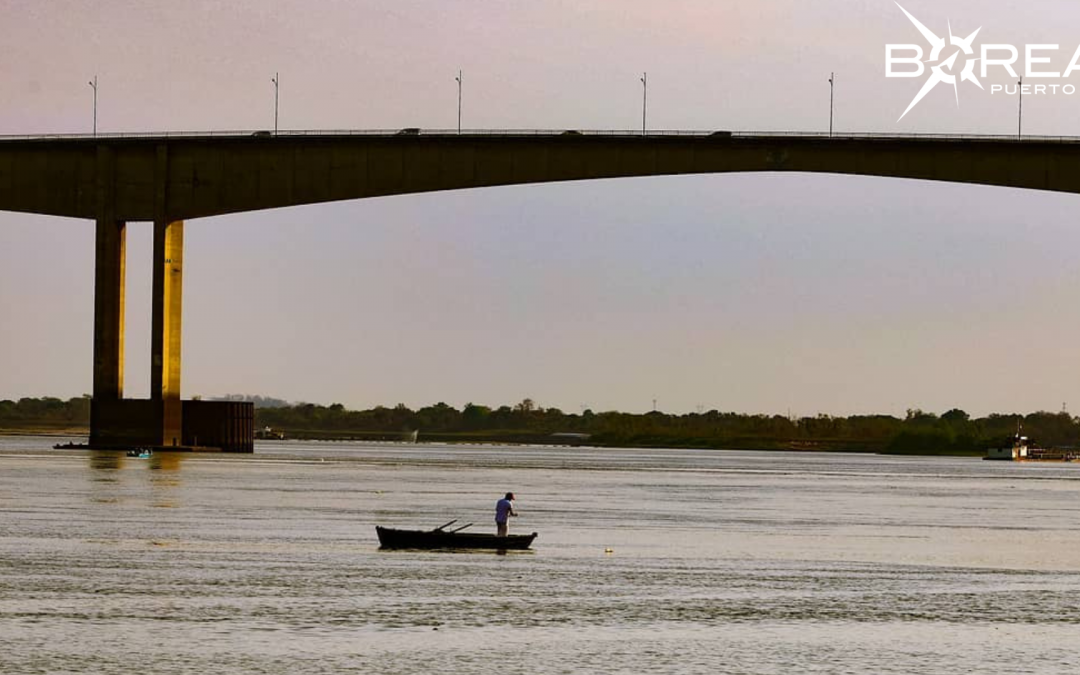
[[[183,220],[435,190],[762,171],[1080,192],[1080,143],[423,134],[0,140],[0,211]]]

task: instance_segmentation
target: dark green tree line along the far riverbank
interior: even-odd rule
[[[942,415],[910,409],[889,415],[789,418],[738,413],[564,413],[526,399],[497,408],[445,403],[410,409],[377,406],[349,410],[340,404],[273,405],[257,400],[257,429],[270,427],[292,438],[400,441],[411,432],[429,442],[550,443],[626,447],[798,449],[899,455],[982,455],[1007,443],[1018,420],[1024,432],[1045,446],[1076,445],[1080,418],[1067,413],[989,415],[972,419],[951,409]],[[0,430],[71,433],[90,424],[90,397],[0,401]]]

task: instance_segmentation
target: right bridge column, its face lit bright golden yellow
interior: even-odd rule
[[[180,307],[184,289],[184,221],[153,224],[153,309],[150,328],[150,397],[161,402],[162,445],[181,443]]]

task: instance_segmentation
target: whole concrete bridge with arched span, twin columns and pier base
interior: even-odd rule
[[[92,447],[251,451],[249,405],[180,400],[184,221],[391,194],[728,172],[1080,192],[1080,138],[731,132],[230,132],[0,137],[0,211],[92,219]],[[153,222],[151,393],[123,395],[125,226]]]

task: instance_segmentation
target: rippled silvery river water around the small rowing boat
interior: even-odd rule
[[[50,444],[0,437],[5,674],[1080,672],[1080,465]],[[531,552],[378,550],[507,490]]]

